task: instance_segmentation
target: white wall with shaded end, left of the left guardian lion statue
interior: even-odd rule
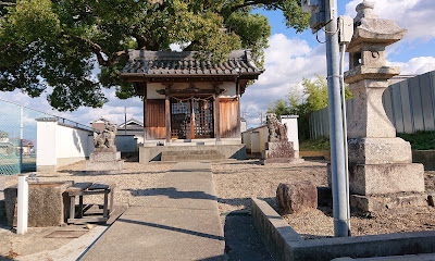
[[[59,124],[53,119],[37,122],[37,171],[54,172],[58,166],[85,160],[94,151],[92,132]]]

